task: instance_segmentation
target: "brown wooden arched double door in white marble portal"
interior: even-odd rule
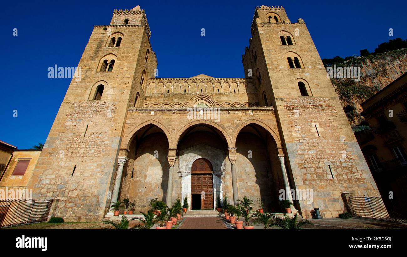
[[[211,163],[200,158],[191,168],[191,209],[213,210],[213,174]]]

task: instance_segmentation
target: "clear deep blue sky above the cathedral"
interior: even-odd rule
[[[110,24],[114,9],[140,5],[146,11],[159,77],[243,77],[242,54],[254,9],[262,4],[282,5],[291,22],[303,18],[322,59],[407,38],[407,2],[401,0],[6,1],[0,11],[0,140],[19,149],[45,142],[71,81],[49,79],[48,67],[77,66],[93,26]]]

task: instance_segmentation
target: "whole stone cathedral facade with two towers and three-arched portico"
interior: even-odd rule
[[[33,197],[58,199],[66,221],[94,221],[124,198],[138,213],[152,198],[215,209],[218,196],[246,195],[279,212],[283,195],[303,217],[336,217],[343,193],[380,196],[304,20],[260,6],[251,32],[244,78],[159,78],[144,10],[114,10],[94,26]]]

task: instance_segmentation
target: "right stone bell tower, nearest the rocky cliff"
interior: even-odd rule
[[[336,217],[341,193],[379,196],[304,20],[291,22],[283,7],[263,5],[251,29],[245,74],[252,71],[260,105],[275,108],[291,189],[313,197],[294,199],[302,215],[319,208]]]

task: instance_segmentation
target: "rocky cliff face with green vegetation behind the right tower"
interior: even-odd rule
[[[338,93],[350,125],[358,125],[364,119],[361,103],[387,86],[407,71],[407,48],[400,51],[355,57],[345,62],[343,67],[361,67],[361,80],[331,79]]]

